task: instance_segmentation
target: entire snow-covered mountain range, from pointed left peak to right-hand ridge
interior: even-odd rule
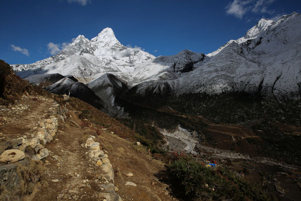
[[[261,19],[244,37],[207,55],[183,50],[156,58],[139,48],[123,46],[106,28],[91,40],[78,36],[55,56],[12,66],[22,78],[60,73],[78,80],[95,79],[87,86],[113,114],[122,113],[116,108],[115,96],[126,91],[136,96],[247,92],[299,99],[300,38],[301,16],[292,13],[277,21]]]

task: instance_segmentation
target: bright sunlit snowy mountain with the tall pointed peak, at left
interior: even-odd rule
[[[127,78],[134,66],[154,59],[155,56],[139,48],[125,47],[119,43],[110,28],[102,30],[91,40],[79,35],[57,55],[33,64],[12,65],[21,77],[33,74],[60,73],[76,77],[97,78],[114,72]]]

